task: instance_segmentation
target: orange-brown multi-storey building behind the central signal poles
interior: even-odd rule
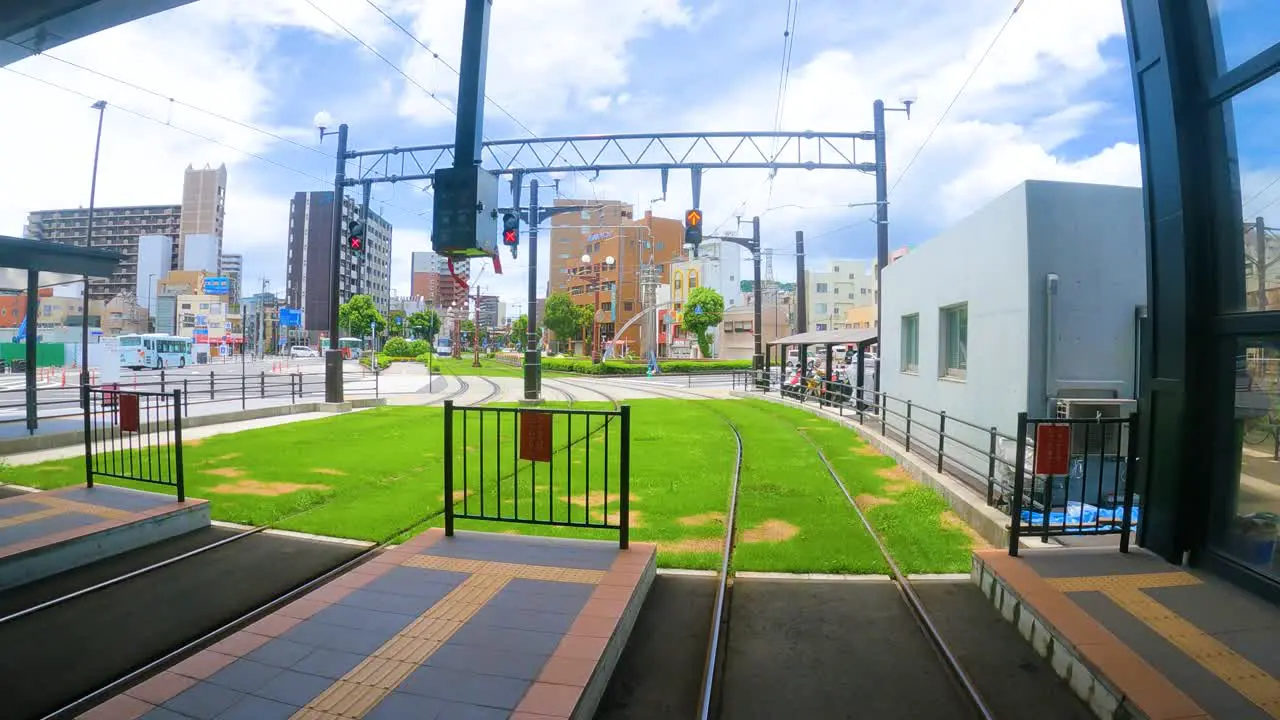
[[[557,205],[599,205],[580,213],[552,217],[548,293],[568,292],[577,305],[595,304],[595,273],[600,281],[596,319],[602,341],[617,340],[631,351],[640,348],[640,323],[614,338],[614,329],[643,307],[641,265],[658,268],[658,282],[668,282],[671,263],[682,254],[685,227],[678,219],[655,218],[646,211],[635,219],[630,204],[616,200],[558,200]],[[582,255],[591,263],[584,265]],[[612,256],[612,266],[604,259]]]

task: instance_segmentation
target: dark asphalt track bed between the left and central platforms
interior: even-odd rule
[[[225,537],[210,529],[0,593],[0,612]],[[360,548],[257,534],[0,625],[5,720],[42,717],[353,557]]]

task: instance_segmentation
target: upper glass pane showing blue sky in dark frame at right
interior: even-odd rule
[[[1231,220],[1224,261],[1224,310],[1280,310],[1280,76],[1233,97],[1224,108],[1240,215]],[[1226,232],[1226,229],[1224,229]]]

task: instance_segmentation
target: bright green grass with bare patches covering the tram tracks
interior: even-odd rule
[[[870,506],[868,515],[905,571],[963,571],[969,566],[968,534],[943,527],[946,502],[929,488],[896,487],[882,478],[878,473],[893,462],[860,452],[864,446],[858,436],[836,423],[754,400],[636,400],[630,405],[631,538],[657,542],[658,562],[664,568],[719,565],[735,443],[718,413],[733,420],[745,442],[741,534],[735,555],[739,570],[886,571],[870,537],[796,428],[823,448],[851,495],[886,501]],[[579,402],[573,407],[608,405]],[[616,523],[618,420],[604,429],[599,418],[586,421],[573,415],[570,428],[566,416],[558,415],[552,462],[535,466],[512,457],[518,447],[512,416],[503,414],[495,420],[494,414],[485,414],[484,428],[474,413],[465,423],[456,421],[457,507],[479,512],[483,500],[489,514],[500,507],[504,516],[545,520],[554,514],[557,519],[590,518],[595,523],[608,514]],[[212,436],[184,448],[187,492],[211,500],[218,520],[276,523],[291,530],[369,541],[413,534],[443,523],[443,410],[399,406]],[[605,438],[611,450],[608,498],[602,492]],[[494,447],[502,447],[503,454],[497,456]],[[83,480],[83,460],[0,465],[0,480],[40,488],[77,484]],[[283,489],[280,483],[314,487],[276,496],[246,495],[243,491],[252,488],[244,483],[251,480],[268,489]],[[215,492],[237,484],[239,492]],[[465,500],[463,484],[468,491]],[[586,484],[591,497],[584,496]],[[458,527],[616,538],[614,530],[481,520],[460,520]]]

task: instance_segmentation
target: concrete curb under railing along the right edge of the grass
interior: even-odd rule
[[[959,515],[965,524],[982,536],[982,539],[989,542],[992,547],[1009,547],[1007,515],[995,507],[989,507],[987,505],[987,498],[978,495],[978,492],[969,486],[950,475],[938,474],[924,459],[908,452],[905,447],[879,434],[874,429],[858,424],[854,418],[841,416],[812,405],[797,405],[795,402],[787,402],[782,398],[762,396],[754,392],[733,391],[733,396],[764,400],[765,402],[785,405],[786,407],[799,407],[819,418],[826,418],[845,425],[846,428],[856,432],[864,441],[870,443],[872,447],[883,455],[892,457],[899,466],[906,470],[908,474],[918,482],[938,491],[943,500],[947,501],[947,505],[951,506],[951,510],[955,511],[955,514]]]

